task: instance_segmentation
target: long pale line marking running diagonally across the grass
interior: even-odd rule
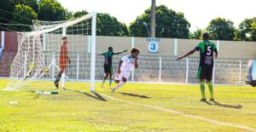
[[[105,94],[102,94],[102,93],[101,93],[101,95],[104,95],[104,96],[108,97],[109,99],[117,100],[119,102],[127,103],[127,104],[134,105],[134,106],[149,107],[149,108],[153,108],[153,109],[164,111],[164,112],[171,112],[172,114],[176,114],[178,116],[182,116],[182,117],[186,117],[186,118],[195,118],[195,119],[198,119],[198,120],[201,120],[201,121],[205,121],[205,122],[208,122],[208,123],[215,123],[215,124],[218,124],[218,125],[229,126],[229,127],[233,127],[233,128],[237,128],[237,129],[244,129],[244,130],[247,130],[247,131],[256,132],[255,128],[248,127],[248,126],[245,126],[245,125],[220,122],[220,121],[217,121],[217,120],[214,120],[214,119],[211,119],[211,118],[205,118],[205,117],[201,117],[201,116],[185,114],[183,112],[177,112],[177,111],[174,111],[172,109],[166,109],[166,108],[163,108],[163,107],[160,107],[160,106],[150,106],[150,105],[146,105],[146,104],[140,104],[140,103],[131,102],[129,100],[120,100],[118,98],[114,98],[112,96],[105,95]]]

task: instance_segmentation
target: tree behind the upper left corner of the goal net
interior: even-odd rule
[[[32,25],[32,20],[38,19],[38,14],[31,7],[24,4],[17,4],[14,14],[16,15],[13,15],[12,21],[9,23],[9,28],[17,31],[30,32],[31,28],[27,25]]]

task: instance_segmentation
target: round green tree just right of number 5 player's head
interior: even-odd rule
[[[207,26],[211,39],[213,40],[233,40],[235,37],[234,23],[224,18],[211,20]]]

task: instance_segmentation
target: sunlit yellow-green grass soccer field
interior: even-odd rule
[[[126,83],[110,93],[96,83],[92,94],[89,83],[67,83],[58,95],[37,95],[3,91],[6,83],[0,131],[256,131],[251,87],[214,86],[215,104],[199,102],[198,85]]]

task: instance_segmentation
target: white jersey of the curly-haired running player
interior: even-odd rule
[[[132,58],[131,55],[126,55],[122,58],[123,64],[120,67],[121,71],[131,72],[134,68],[136,58]]]

